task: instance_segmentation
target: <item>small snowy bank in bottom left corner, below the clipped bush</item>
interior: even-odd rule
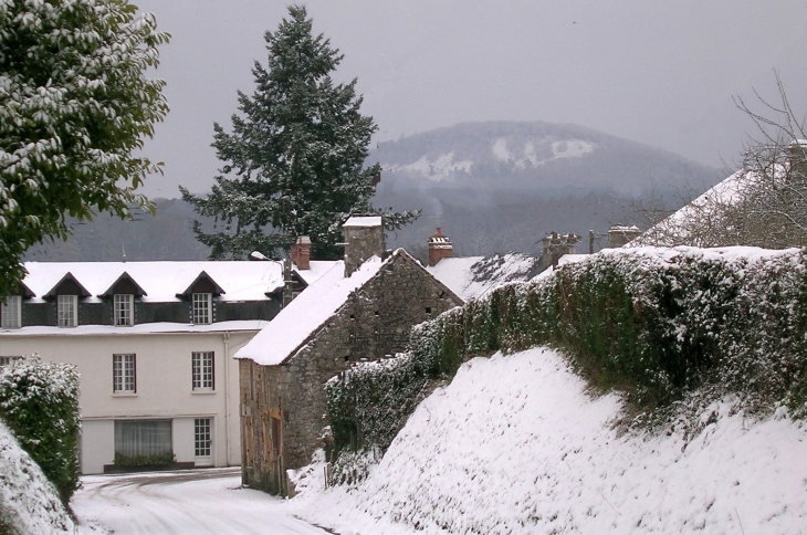
[[[1,420],[0,533],[76,533],[56,489]]]

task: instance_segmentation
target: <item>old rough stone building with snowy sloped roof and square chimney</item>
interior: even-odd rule
[[[345,229],[346,261],[235,354],[242,479],[251,487],[285,495],[286,470],[323,447],[328,379],[404,350],[413,325],[462,304],[406,251],[381,260],[380,218],[352,218]]]

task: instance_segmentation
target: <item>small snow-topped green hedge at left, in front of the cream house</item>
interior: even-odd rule
[[[0,417],[66,504],[78,487],[78,373],[38,357],[0,367]]]

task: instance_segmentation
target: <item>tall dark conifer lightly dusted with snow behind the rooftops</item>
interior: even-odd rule
[[[206,233],[195,223],[211,259],[254,250],[277,256],[297,235],[311,237],[314,258],[335,258],[340,223],[350,213],[376,211],[370,200],[381,169],[364,162],[377,126],[359,112],[356,80],[331,80],[343,55],[312,34],[304,7],[290,6],[289,18],[264,39],[268,66],[255,62],[252,96],[239,92],[232,133],[213,126],[222,175],[207,197],[180,188],[182,198],[224,227]],[[385,222],[395,229],[415,217],[388,212]]]

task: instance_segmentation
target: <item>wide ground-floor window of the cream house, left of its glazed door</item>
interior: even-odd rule
[[[167,464],[174,461],[171,420],[116,420],[115,463]]]

